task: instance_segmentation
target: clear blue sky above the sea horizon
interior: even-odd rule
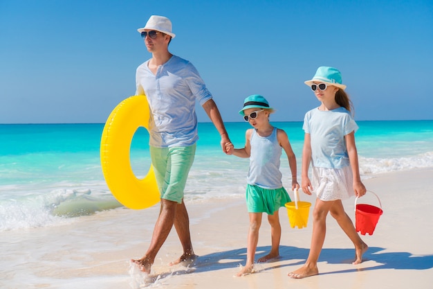
[[[104,123],[151,56],[136,30],[150,15],[172,20],[169,50],[224,121],[250,94],[302,121],[322,65],[342,71],[356,120],[433,119],[433,1],[0,0],[0,123]]]

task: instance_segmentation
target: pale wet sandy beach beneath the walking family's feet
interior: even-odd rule
[[[0,236],[0,288],[431,288],[432,177],[433,168],[427,168],[365,179],[367,189],[380,196],[384,211],[373,236],[362,236],[369,245],[365,261],[351,264],[352,244],[329,216],[320,274],[315,277],[287,277],[306,260],[312,222],[310,211],[306,228],[291,228],[285,208],[279,211],[281,258],[258,264],[256,274],[234,277],[246,261],[248,213],[243,198],[233,198],[187,203],[199,258],[190,267],[167,265],[181,253],[172,230],[146,281],[129,259],[147,249],[158,206],[141,211],[120,208],[63,226],[8,231]],[[301,198],[314,203],[302,192]],[[358,203],[378,206],[368,193]],[[344,207],[354,222],[354,198]],[[33,252],[40,248],[41,254],[30,256],[30,247]],[[270,227],[264,218],[256,259],[269,249]]]

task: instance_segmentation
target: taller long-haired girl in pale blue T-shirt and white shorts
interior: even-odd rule
[[[302,152],[302,191],[317,195],[313,211],[313,236],[311,249],[304,266],[288,274],[292,278],[304,278],[319,274],[317,259],[324,243],[326,216],[337,220],[338,225],[355,245],[353,264],[362,262],[362,254],[368,246],[356,233],[342,200],[353,195],[365,195],[358,166],[355,132],[358,125],[351,116],[351,101],[342,85],[341,73],[333,67],[319,67],[312,80],[305,82],[321,102],[304,118],[304,150]],[[308,167],[312,165],[312,179]]]

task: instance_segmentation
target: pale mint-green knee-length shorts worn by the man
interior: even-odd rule
[[[174,148],[150,147],[150,157],[161,199],[181,204],[195,153],[196,144]]]

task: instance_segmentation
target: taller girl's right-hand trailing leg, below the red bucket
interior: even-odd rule
[[[330,209],[331,216],[337,220],[338,225],[343,229],[344,233],[351,239],[353,245],[355,245],[355,261],[353,264],[359,264],[362,262],[362,254],[369,248],[364,241],[361,240],[360,236],[356,232],[355,226],[347,213],[344,211],[341,200],[333,202],[333,206]]]

